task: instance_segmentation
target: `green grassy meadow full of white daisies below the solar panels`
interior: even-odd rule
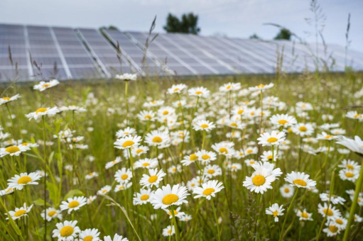
[[[349,71],[4,85],[0,239],[362,240],[362,85]]]

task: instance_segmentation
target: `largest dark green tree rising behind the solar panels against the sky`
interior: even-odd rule
[[[183,14],[181,19],[169,13],[164,30],[167,33],[192,33],[197,35],[200,32],[197,23],[198,16],[193,13]]]

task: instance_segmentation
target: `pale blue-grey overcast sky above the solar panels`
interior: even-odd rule
[[[323,35],[327,43],[345,45],[351,13],[351,48],[363,51],[363,0],[320,0],[326,15]],[[168,13],[180,16],[193,11],[200,17],[201,35],[248,38],[256,33],[273,38],[278,23],[310,42],[314,28],[309,0],[0,0],[0,23],[47,26],[117,26],[145,31],[157,16],[156,32],[163,32]]]

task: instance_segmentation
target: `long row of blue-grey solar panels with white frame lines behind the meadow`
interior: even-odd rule
[[[0,24],[1,82],[99,79],[121,73],[273,74],[279,55],[283,55],[284,72],[315,71],[316,65],[335,72],[347,65],[363,70],[363,53],[349,50],[346,54],[339,45]]]

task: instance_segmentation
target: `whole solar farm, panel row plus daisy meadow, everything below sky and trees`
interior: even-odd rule
[[[329,43],[0,24],[0,240],[362,240],[362,71]]]

